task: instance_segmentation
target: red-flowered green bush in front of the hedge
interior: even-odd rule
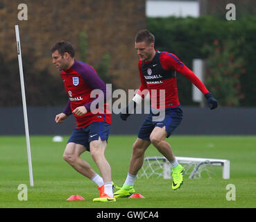
[[[219,42],[205,46],[209,53],[205,85],[222,106],[238,106],[244,98],[241,93],[240,75],[245,74],[244,59],[239,56],[243,39]]]

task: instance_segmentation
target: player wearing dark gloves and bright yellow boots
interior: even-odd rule
[[[171,162],[172,167],[172,189],[178,189],[183,183],[185,173],[183,167],[176,160],[171,146],[165,141],[173,130],[182,121],[182,108],[178,100],[178,89],[176,84],[176,71],[188,78],[205,95],[210,109],[217,107],[218,103],[205,85],[196,75],[182,63],[177,56],[167,51],[155,50],[155,37],[147,30],[139,31],[135,37],[135,49],[139,55],[139,77],[141,86],[132,101],[124,112],[121,112],[121,119],[129,117],[129,110],[133,110],[142,101],[148,89],[151,97],[151,112],[139,128],[138,138],[133,144],[133,154],[130,160],[128,176],[119,191],[114,193],[116,198],[128,197],[135,193],[133,188],[137,172],[142,168],[146,148],[152,143],[164,157]],[[161,101],[161,90],[164,89],[165,99]],[[154,90],[159,92],[153,93]],[[159,95],[159,96],[157,96]],[[162,99],[163,100],[163,99]],[[163,103],[164,102],[164,103]],[[160,104],[162,103],[162,105]],[[164,110],[164,118],[157,121],[154,119],[154,109]]]

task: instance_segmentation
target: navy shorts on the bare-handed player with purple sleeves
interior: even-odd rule
[[[81,144],[85,146],[89,151],[89,143],[93,140],[106,140],[108,142],[108,136],[110,135],[110,124],[105,122],[93,122],[84,128],[76,128],[71,134],[69,141],[75,144]]]

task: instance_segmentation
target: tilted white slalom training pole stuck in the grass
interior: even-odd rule
[[[31,182],[31,187],[33,187],[34,182],[33,182],[32,161],[31,161],[31,144],[30,144],[29,132],[28,132],[28,114],[26,112],[26,94],[25,94],[23,66],[22,66],[22,50],[21,50],[20,40],[19,40],[19,26],[18,25],[15,25],[15,33],[16,33],[17,51],[18,51],[18,60],[19,60],[20,84],[22,87],[22,105],[23,105],[25,132],[26,132],[26,151],[28,153],[29,179]]]

